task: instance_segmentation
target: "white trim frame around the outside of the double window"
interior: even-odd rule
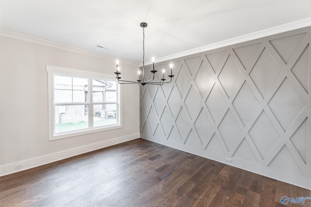
[[[81,130],[81,131],[76,131],[76,132],[68,132],[68,133],[54,135],[54,103],[53,103],[53,74],[54,73],[55,74],[66,74],[66,75],[72,75],[72,76],[83,76],[83,77],[92,78],[92,79],[99,78],[99,79],[106,79],[106,80],[107,79],[115,80],[115,76],[111,74],[96,73],[96,72],[77,70],[77,69],[71,69],[71,68],[65,68],[65,67],[57,67],[57,66],[51,66],[51,65],[46,65],[46,71],[48,72],[49,141],[122,128],[122,86],[120,84],[117,84],[117,87],[119,87],[118,98],[119,98],[119,103],[120,103],[119,104],[119,125],[100,127],[100,128],[91,128],[91,129],[86,129],[86,130]]]

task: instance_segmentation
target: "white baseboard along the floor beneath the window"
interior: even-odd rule
[[[139,133],[134,133],[134,134],[129,134],[129,135],[122,136],[122,137],[113,138],[110,140],[105,140],[105,141],[98,142],[98,143],[87,144],[84,146],[68,149],[68,150],[61,151],[61,152],[55,152],[52,154],[48,154],[48,155],[44,155],[44,156],[40,156],[40,157],[36,157],[32,159],[25,159],[25,160],[20,160],[18,162],[6,164],[6,165],[1,165],[0,176],[17,173],[19,171],[31,169],[31,168],[44,165],[44,164],[48,164],[48,163],[58,161],[61,159],[66,159],[66,158],[70,158],[73,156],[81,155],[86,152],[91,152],[97,149],[102,149],[104,147],[112,146],[118,143],[124,143],[130,140],[135,140],[137,138],[139,138]],[[23,168],[16,170],[15,166],[19,164],[23,164]]]

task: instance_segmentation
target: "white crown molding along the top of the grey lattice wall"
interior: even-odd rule
[[[279,26],[269,28],[266,30],[261,30],[258,32],[252,32],[252,33],[245,34],[245,35],[242,35],[239,37],[234,37],[234,38],[231,38],[228,40],[224,40],[221,42],[206,45],[206,46],[203,46],[200,48],[194,48],[194,49],[190,49],[187,51],[175,53],[173,55],[168,55],[168,56],[165,56],[162,58],[157,58],[156,61],[158,63],[160,63],[160,62],[173,60],[176,58],[185,57],[185,56],[200,53],[200,52],[205,52],[205,51],[212,50],[212,49],[223,48],[226,46],[235,45],[238,43],[259,39],[262,37],[266,37],[266,36],[270,36],[270,35],[274,35],[274,34],[278,34],[278,33],[282,33],[282,32],[288,32],[288,31],[296,30],[296,29],[300,29],[300,28],[304,28],[304,27],[308,27],[308,26],[311,26],[311,15],[308,18],[301,19],[301,20],[294,21],[294,22],[287,23],[287,24],[283,24],[283,25],[279,25]],[[152,62],[148,61],[145,63],[145,65],[148,65],[148,64],[152,64]],[[139,66],[142,66],[142,63],[139,63]]]

